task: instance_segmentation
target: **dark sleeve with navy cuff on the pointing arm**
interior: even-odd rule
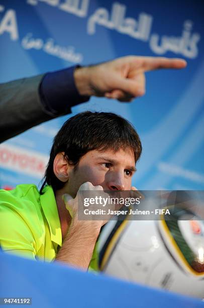
[[[73,70],[0,84],[0,142],[71,113],[71,106],[87,101],[88,97],[81,97],[75,88]]]

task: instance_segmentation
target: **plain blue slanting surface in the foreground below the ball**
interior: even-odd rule
[[[0,272],[0,297],[32,297],[31,307],[204,307],[194,298],[3,253]]]

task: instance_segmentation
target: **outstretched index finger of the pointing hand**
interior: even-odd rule
[[[187,62],[179,58],[165,57],[141,57],[142,66],[145,71],[161,69],[161,68],[184,68]]]

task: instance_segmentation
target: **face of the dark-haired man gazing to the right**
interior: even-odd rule
[[[65,185],[66,193],[72,197],[81,184],[91,182],[104,190],[131,190],[132,176],[135,169],[135,157],[132,149],[120,149],[87,152],[79,161],[76,171],[69,170],[69,179]]]

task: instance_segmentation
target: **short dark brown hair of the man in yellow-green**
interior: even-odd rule
[[[135,128],[126,119],[110,112],[78,113],[63,124],[54,138],[40,193],[46,184],[51,185],[54,191],[65,185],[53,171],[58,153],[64,152],[68,163],[76,169],[80,158],[88,151],[112,149],[116,152],[128,147],[133,150],[136,163],[141,155],[142,144]]]

